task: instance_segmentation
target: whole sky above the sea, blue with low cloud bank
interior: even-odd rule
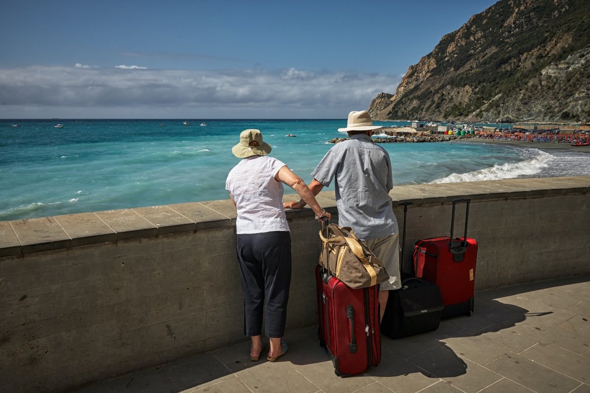
[[[493,0],[2,0],[0,118],[345,118]]]

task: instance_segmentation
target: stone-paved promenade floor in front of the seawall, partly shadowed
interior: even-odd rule
[[[250,362],[247,342],[78,393],[590,393],[590,277],[476,293],[473,315],[431,333],[383,337],[381,365],[339,378],[316,326],[289,331],[289,353]]]

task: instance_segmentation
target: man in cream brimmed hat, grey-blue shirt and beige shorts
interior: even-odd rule
[[[339,128],[349,140],[335,144],[312,172],[309,186],[314,195],[335,179],[336,206],[340,226],[352,227],[360,240],[385,263],[389,280],[379,287],[380,318],[383,318],[390,289],[400,288],[398,223],[391,206],[393,187],[389,154],[373,144],[373,126],[367,111],[352,111],[348,126]],[[301,209],[305,202],[288,202],[284,207]]]

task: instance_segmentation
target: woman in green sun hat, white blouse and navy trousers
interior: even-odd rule
[[[284,335],[291,283],[291,237],[283,209],[283,183],[290,186],[316,213],[330,219],[312,191],[289,168],[273,157],[259,130],[245,130],[232,153],[242,158],[228,174],[225,189],[238,210],[235,223],[237,251],[244,290],[244,334],[252,339],[250,360],[264,351],[263,311],[270,339],[268,361],[287,352]],[[266,300],[266,305],[265,305]]]

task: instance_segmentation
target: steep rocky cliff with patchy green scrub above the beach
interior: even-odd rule
[[[375,120],[590,121],[588,0],[500,0],[381,93]]]

